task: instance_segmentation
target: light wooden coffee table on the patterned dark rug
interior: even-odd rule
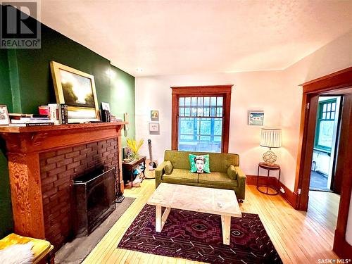
[[[231,217],[242,217],[232,190],[161,183],[147,203],[156,206],[156,232],[163,229],[171,208],[221,215],[222,242],[225,245],[230,244]],[[165,207],[163,215],[162,207]]]

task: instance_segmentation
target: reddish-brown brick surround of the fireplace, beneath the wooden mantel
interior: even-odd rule
[[[101,165],[118,165],[117,138],[39,154],[46,239],[60,247],[73,231],[71,186]]]

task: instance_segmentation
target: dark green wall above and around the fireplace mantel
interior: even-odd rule
[[[42,25],[41,49],[0,49],[0,104],[12,113],[37,113],[37,106],[56,103],[50,61],[94,75],[99,107],[111,104],[111,112],[130,114],[128,137],[134,137],[134,77],[110,61]],[[122,137],[125,146],[125,137]],[[0,238],[13,227],[5,143],[0,138]]]

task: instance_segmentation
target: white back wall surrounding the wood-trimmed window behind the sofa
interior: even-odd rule
[[[284,82],[281,72],[219,73],[211,75],[171,75],[136,78],[136,132],[137,138],[151,139],[153,157],[163,161],[163,151],[171,148],[171,89],[172,86],[234,84],[232,88],[230,144],[229,151],[239,153],[241,168],[248,175],[256,175],[258,162],[265,151],[259,146],[260,127],[247,125],[249,110],[263,110],[265,126],[282,126],[282,120],[299,109],[301,102],[285,100]],[[299,89],[294,91],[299,97]],[[272,107],[275,106],[275,107]],[[151,109],[160,113],[160,135],[149,135],[148,122]],[[274,150],[277,154],[284,151],[287,142],[286,130],[283,134],[283,148]],[[147,153],[146,145],[142,153]],[[279,158],[278,163],[281,163]],[[290,179],[295,171],[294,158],[291,168],[284,167],[282,179]]]

